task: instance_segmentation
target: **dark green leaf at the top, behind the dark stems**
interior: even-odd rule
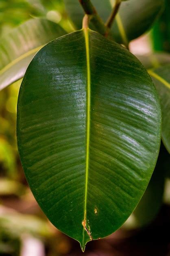
[[[82,27],[83,9],[78,0],[64,0],[70,18],[77,29]],[[111,13],[114,0],[92,0],[101,18],[106,21]],[[130,0],[122,2],[120,11],[113,23],[112,32],[118,43],[128,41],[142,35],[155,21],[162,10],[164,0]],[[91,25],[94,29],[94,27]]]

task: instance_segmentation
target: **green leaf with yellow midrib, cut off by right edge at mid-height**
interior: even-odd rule
[[[162,140],[170,153],[170,64],[148,70],[148,73],[155,83],[161,100]]]

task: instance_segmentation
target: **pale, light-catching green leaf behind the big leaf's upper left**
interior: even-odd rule
[[[35,53],[67,34],[59,25],[37,18],[24,22],[0,41],[0,90],[21,79]]]

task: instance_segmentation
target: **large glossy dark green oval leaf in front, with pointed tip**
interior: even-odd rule
[[[160,137],[156,89],[124,47],[84,29],[33,58],[17,106],[20,158],[44,213],[83,250],[134,210]]]

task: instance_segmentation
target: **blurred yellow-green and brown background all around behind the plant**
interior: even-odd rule
[[[133,42],[132,51],[135,45],[138,53],[140,47],[143,53],[147,41],[150,52],[154,49],[170,52],[170,1],[166,2],[168,8],[151,30],[151,40],[141,38],[136,44]],[[63,0],[0,0],[0,36],[3,37],[22,22],[39,16],[59,23],[68,32],[72,31]],[[61,234],[46,219],[27,186],[17,152],[15,134],[20,84],[21,80],[0,92],[0,255],[82,255],[78,243]],[[165,168],[162,168],[170,173],[168,162]],[[156,184],[154,188],[157,188]],[[83,255],[170,255],[170,238],[166,236],[165,231],[170,228],[170,207],[167,206],[170,204],[168,179],[164,202],[166,206],[163,205],[158,217],[147,227],[136,229],[134,219],[130,218],[123,229],[109,238],[89,243]]]

